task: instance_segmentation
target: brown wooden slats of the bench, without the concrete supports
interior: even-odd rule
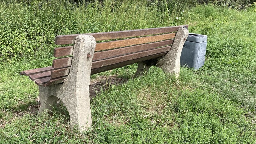
[[[188,27],[188,25],[184,25]],[[177,30],[181,26],[126,30],[116,32],[88,33],[96,40],[91,74],[122,67],[139,61],[154,59],[168,53],[173,44]],[[55,44],[74,44],[76,36],[56,36]],[[121,40],[116,40],[121,39]],[[99,42],[111,40],[106,42]],[[54,49],[54,57],[65,57],[53,60],[52,68],[30,76],[36,84],[49,86],[63,82],[68,76],[72,62],[73,46]],[[69,56],[69,57],[66,57]],[[50,75],[50,76],[49,76]],[[45,76],[42,78],[42,76]],[[40,79],[38,79],[40,77]]]

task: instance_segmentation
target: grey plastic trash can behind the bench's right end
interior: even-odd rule
[[[180,56],[180,65],[199,69],[204,65],[207,45],[207,36],[189,33],[183,45]]]

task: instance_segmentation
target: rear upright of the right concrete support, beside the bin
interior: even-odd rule
[[[157,59],[156,66],[162,68],[164,72],[174,73],[178,77],[180,73],[180,55],[187,37],[188,29],[180,27],[175,36],[172,48],[165,56]]]

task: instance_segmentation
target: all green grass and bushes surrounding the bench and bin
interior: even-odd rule
[[[1,1],[0,143],[256,143],[255,6],[183,2]],[[204,67],[181,68],[179,83],[155,67],[132,78],[136,65],[93,75],[126,82],[91,100],[94,125],[83,134],[69,129],[61,102],[30,112],[38,88],[18,73],[51,65],[56,35],[181,24],[208,45]]]

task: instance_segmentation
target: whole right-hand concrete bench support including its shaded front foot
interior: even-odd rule
[[[173,73],[176,77],[180,73],[180,55],[183,44],[188,37],[188,29],[180,27],[176,33],[175,41],[170,51],[163,57],[157,58],[155,61],[147,60],[138,63],[138,69],[135,76],[141,76],[148,71],[150,66],[155,65],[164,70],[166,73]]]

